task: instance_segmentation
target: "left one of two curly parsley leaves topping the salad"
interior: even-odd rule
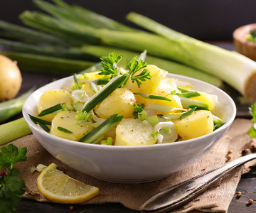
[[[100,69],[99,75],[111,75],[111,79],[119,75],[117,64],[121,59],[122,55],[117,55],[115,52],[100,58],[102,69]]]

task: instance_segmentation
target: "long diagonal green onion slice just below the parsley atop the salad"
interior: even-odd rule
[[[89,101],[85,103],[84,109],[82,111],[91,111],[96,107],[97,104],[100,104],[106,97],[108,97],[115,89],[120,87],[127,75],[117,75],[110,82],[108,82],[105,87],[100,89],[95,95],[93,95]]]

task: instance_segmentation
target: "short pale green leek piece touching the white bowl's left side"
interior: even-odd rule
[[[11,129],[11,131],[10,131]],[[24,118],[0,125],[0,146],[31,133]]]

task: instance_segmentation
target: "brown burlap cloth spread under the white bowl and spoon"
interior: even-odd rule
[[[149,197],[156,194],[156,192],[223,165],[227,161],[228,151],[233,151],[230,154],[231,160],[239,158],[242,150],[250,148],[254,143],[256,144],[256,138],[247,136],[247,131],[251,126],[252,122],[249,120],[236,119],[228,130],[228,133],[218,142],[215,148],[197,163],[174,173],[169,176],[169,178],[142,184],[105,182],[73,170],[53,158],[33,135],[25,136],[12,143],[18,147],[26,146],[28,148],[28,160],[26,162],[17,163],[15,167],[21,170],[20,178],[23,178],[26,182],[26,192],[33,192],[36,193],[36,195],[24,194],[23,198],[37,200],[39,202],[50,202],[40,194],[36,185],[36,179],[39,173],[35,172],[31,174],[28,168],[32,166],[36,167],[39,163],[44,165],[56,163],[59,170],[70,175],[70,177],[80,180],[85,184],[100,188],[100,195],[83,204],[119,202],[129,209],[139,210],[140,205]],[[235,169],[206,190],[206,192],[203,192],[203,194],[199,195],[191,202],[188,202],[183,207],[179,207],[172,212],[191,212],[192,210],[197,210],[196,212],[227,212],[242,173],[247,173],[252,165],[256,165],[256,160],[252,160],[246,165]]]

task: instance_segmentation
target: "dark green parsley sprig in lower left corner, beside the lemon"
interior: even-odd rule
[[[20,171],[14,168],[14,165],[21,161],[26,161],[27,149],[19,149],[13,144],[1,148],[0,169],[6,169],[4,175],[0,175],[0,212],[15,212],[23,195],[23,188],[26,187],[24,180],[18,178]]]

